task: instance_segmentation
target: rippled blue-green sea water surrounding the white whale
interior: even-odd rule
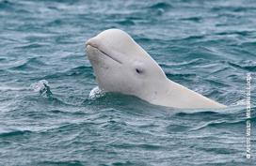
[[[229,107],[91,92],[85,42],[108,28],[129,33],[172,81]],[[256,165],[255,72],[254,0],[0,0],[0,165]]]

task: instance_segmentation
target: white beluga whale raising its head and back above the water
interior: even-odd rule
[[[182,109],[226,107],[169,80],[151,55],[120,29],[108,29],[88,39],[86,50],[96,82],[104,92]]]

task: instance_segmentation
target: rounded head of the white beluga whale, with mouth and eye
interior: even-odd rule
[[[108,29],[88,39],[86,51],[104,92],[152,98],[157,83],[167,79],[152,57],[120,29]]]

